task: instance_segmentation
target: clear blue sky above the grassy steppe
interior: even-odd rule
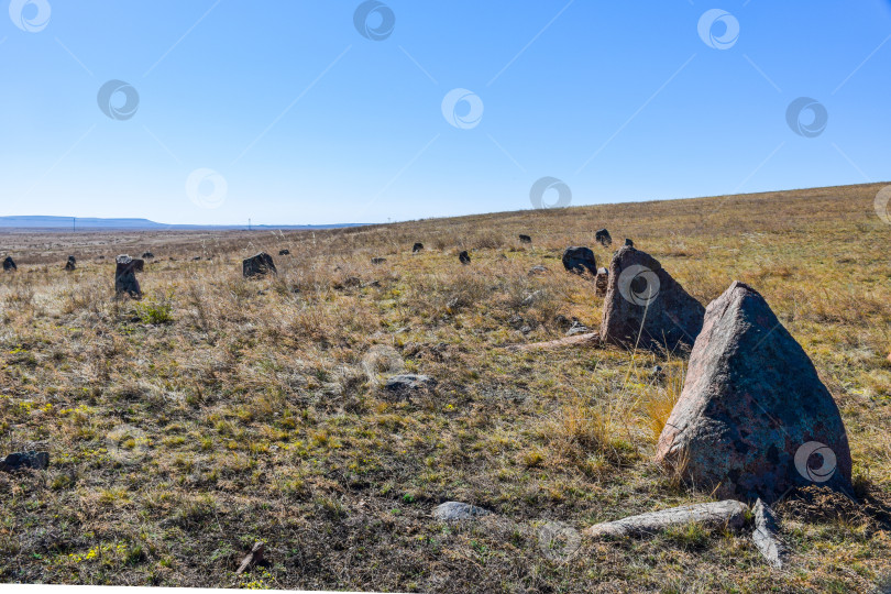
[[[891,179],[887,0],[387,0],[360,15],[380,40],[360,4],[13,0],[0,215],[380,222],[532,208],[546,176],[573,205]],[[109,80],[134,113],[100,109]],[[453,89],[479,100],[443,111]]]

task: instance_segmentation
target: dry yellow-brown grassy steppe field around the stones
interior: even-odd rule
[[[19,271],[0,275],[0,453],[46,450],[51,466],[0,473],[0,581],[433,592],[891,583],[881,187],[315,233],[1,232],[0,255]],[[711,501],[652,461],[683,353],[505,349],[560,338],[573,317],[596,328],[603,298],[560,256],[587,245],[608,266],[613,250],[594,242],[602,227],[614,248],[632,238],[704,305],[734,279],[757,288],[836,398],[860,505],[818,491],[783,502],[787,569],[763,562],[750,530],[543,543],[547,522],[581,532]],[[416,241],[426,250],[413,255]],[[279,274],[243,279],[241,260],[261,250]],[[144,251],[156,256],[140,275],[145,297],[116,299],[114,256]],[[530,276],[536,265],[549,272]],[[438,385],[408,402],[387,395],[383,380],[403,367]],[[444,525],[431,517],[444,501],[497,515]],[[235,575],[257,540],[268,565]]]

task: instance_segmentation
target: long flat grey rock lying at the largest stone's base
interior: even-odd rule
[[[746,522],[749,507],[740,502],[727,499],[696,505],[683,505],[661,512],[631,516],[616,521],[595,524],[586,530],[587,536],[600,537],[647,537],[672,526],[702,524],[708,527],[739,529]]]

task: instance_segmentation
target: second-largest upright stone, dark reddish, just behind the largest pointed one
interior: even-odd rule
[[[626,349],[675,351],[692,348],[705,308],[662,268],[630,245],[609,265],[601,337]]]

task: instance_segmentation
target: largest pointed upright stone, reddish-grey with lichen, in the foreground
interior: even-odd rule
[[[850,492],[835,400],[749,286],[734,283],[708,305],[657,460],[718,496],[770,504],[813,483]]]

